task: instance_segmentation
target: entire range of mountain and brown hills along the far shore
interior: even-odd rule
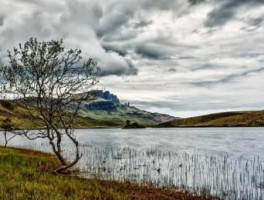
[[[225,112],[179,119],[122,104],[118,97],[105,92],[100,91],[98,95],[93,95],[93,100],[86,101],[81,105],[80,116],[76,119],[75,128],[123,127],[127,120],[131,123],[157,128],[264,126],[264,111]],[[32,109],[36,109],[33,100],[30,102]],[[37,113],[37,110],[35,112]],[[17,129],[44,126],[40,121],[32,124],[30,115],[23,104],[17,101],[0,100],[0,127],[7,117],[11,119]]]

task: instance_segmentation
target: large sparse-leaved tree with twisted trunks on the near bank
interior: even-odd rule
[[[82,156],[74,124],[82,102],[89,98],[88,91],[98,82],[97,63],[92,59],[81,63],[81,50],[66,51],[62,40],[38,42],[36,38],[8,51],[8,57],[10,65],[2,69],[6,90],[17,95],[32,121],[45,126],[24,135],[30,140],[48,139],[61,163],[56,172],[71,168]],[[75,149],[71,161],[63,155],[66,138]]]

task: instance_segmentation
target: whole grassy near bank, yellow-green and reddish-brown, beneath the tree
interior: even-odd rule
[[[51,154],[0,147],[0,199],[208,199],[187,192],[52,174],[57,165]]]

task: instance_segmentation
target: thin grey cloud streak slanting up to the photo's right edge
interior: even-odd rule
[[[242,66],[242,68],[245,68],[245,66]],[[225,76],[224,78],[218,79],[218,80],[213,80],[213,81],[197,81],[197,82],[192,82],[191,84],[194,86],[198,87],[210,87],[213,85],[221,84],[221,83],[228,83],[234,79],[242,78],[244,76],[247,76],[252,73],[258,73],[264,71],[264,67],[258,68],[258,69],[252,69],[248,70],[245,72],[240,72],[240,73],[233,73],[230,75]]]

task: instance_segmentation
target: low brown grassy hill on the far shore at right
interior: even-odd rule
[[[158,127],[253,127],[264,126],[264,111],[226,112],[176,119]]]

